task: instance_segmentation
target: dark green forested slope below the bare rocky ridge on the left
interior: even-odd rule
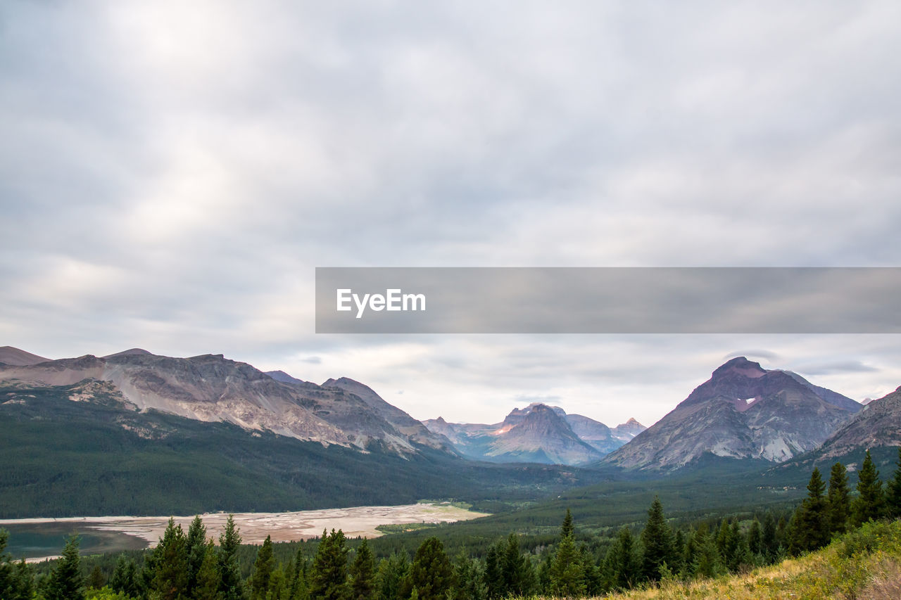
[[[109,382],[0,386],[0,518],[195,514],[534,498],[599,480],[479,465],[429,448],[362,452],[123,402]]]

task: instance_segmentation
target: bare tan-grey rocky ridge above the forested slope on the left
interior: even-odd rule
[[[126,350],[105,358],[86,355],[0,366],[0,381],[19,388],[65,386],[86,379],[109,382],[124,402],[141,411],[225,421],[247,430],[268,430],[298,440],[359,449],[376,443],[404,454],[416,451],[423,440],[441,447],[439,441],[430,440],[422,432],[408,435],[382,415],[389,412],[387,408],[374,409],[341,386],[277,381],[221,354],[177,359]],[[375,395],[371,390],[369,393]]]

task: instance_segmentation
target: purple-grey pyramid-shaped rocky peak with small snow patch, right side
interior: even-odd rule
[[[768,371],[744,357],[732,359],[605,461],[663,470],[683,467],[705,453],[782,462],[818,447],[853,414],[849,409],[859,410],[844,396],[840,404],[847,408],[827,402],[824,397],[832,394],[795,374]]]

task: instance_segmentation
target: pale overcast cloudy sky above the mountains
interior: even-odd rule
[[[456,422],[541,401],[650,424],[735,355],[885,395],[894,334],[317,335],[314,268],[899,266],[897,23],[896,2],[5,2],[0,345],[223,353]]]

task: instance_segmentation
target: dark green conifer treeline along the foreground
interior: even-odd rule
[[[87,577],[79,564],[77,538],[43,577],[4,554],[0,532],[0,597],[5,600],[496,600],[516,595],[578,597],[653,584],[690,580],[778,562],[816,550],[860,523],[901,517],[901,449],[894,477],[883,485],[869,451],[851,493],[846,468],[833,465],[828,488],[815,469],[808,495],[793,514],[767,512],[740,521],[696,522],[674,527],[655,498],[643,527],[623,527],[605,545],[577,539],[567,510],[560,533],[547,545],[523,551],[509,534],[478,556],[451,557],[441,540],[424,540],[411,557],[405,551],[377,559],[367,541],[353,550],[341,531],[323,532],[312,559],[298,547],[292,557],[267,538],[259,548],[241,546],[231,517],[219,543],[207,541],[196,517],[187,532],[170,521],[154,550],[135,560],[122,554],[107,578],[99,566]],[[853,496],[853,497],[852,497]],[[531,544],[530,544],[531,546]],[[255,551],[252,566],[241,554]],[[285,548],[279,550],[286,550]],[[283,559],[277,559],[281,554]],[[138,555],[140,557],[140,554]],[[108,571],[107,571],[108,572]]]

